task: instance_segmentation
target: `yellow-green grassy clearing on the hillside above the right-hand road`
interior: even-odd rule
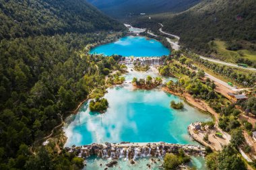
[[[220,40],[216,40],[214,41],[213,44],[210,43],[209,45],[210,45],[210,48],[215,49],[218,52],[218,54],[217,55],[214,54],[214,56],[222,60],[235,62],[237,58],[247,58],[249,60],[256,62],[256,51],[247,50],[247,49],[237,50],[237,51],[227,50],[226,42],[220,41]],[[243,53],[244,55],[241,56],[239,53]]]

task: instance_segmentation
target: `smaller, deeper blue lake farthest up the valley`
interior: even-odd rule
[[[126,36],[117,42],[103,44],[92,48],[90,54],[103,54],[111,56],[119,54],[121,56],[164,56],[170,54],[170,50],[154,39],[147,39],[141,36]]]

